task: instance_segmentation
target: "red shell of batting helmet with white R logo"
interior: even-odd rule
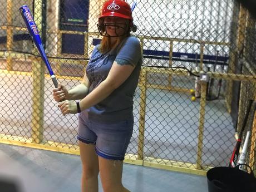
[[[131,7],[123,0],[108,0],[102,6],[99,19],[108,16],[121,17],[132,21]]]

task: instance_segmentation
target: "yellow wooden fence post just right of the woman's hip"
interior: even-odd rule
[[[139,111],[139,141],[137,160],[143,160],[144,135],[145,135],[145,115],[146,115],[146,82],[147,72],[142,69],[140,73],[140,111]]]

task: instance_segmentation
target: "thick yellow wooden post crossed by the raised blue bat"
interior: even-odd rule
[[[35,1],[34,19],[41,31],[42,21],[42,2]],[[36,48],[33,52],[36,52]],[[44,104],[44,88],[45,88],[45,65],[41,58],[32,59],[32,142],[39,144],[43,139],[43,104]]]

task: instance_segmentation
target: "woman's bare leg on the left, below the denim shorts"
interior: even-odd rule
[[[95,152],[95,145],[79,141],[80,157],[82,161],[82,192],[98,192],[99,160]]]

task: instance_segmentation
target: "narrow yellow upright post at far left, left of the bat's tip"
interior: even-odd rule
[[[7,0],[7,51],[11,52],[13,47],[13,24],[12,24],[12,7],[13,2],[11,0]],[[7,62],[7,70],[12,71],[12,57],[8,55],[6,58]]]

